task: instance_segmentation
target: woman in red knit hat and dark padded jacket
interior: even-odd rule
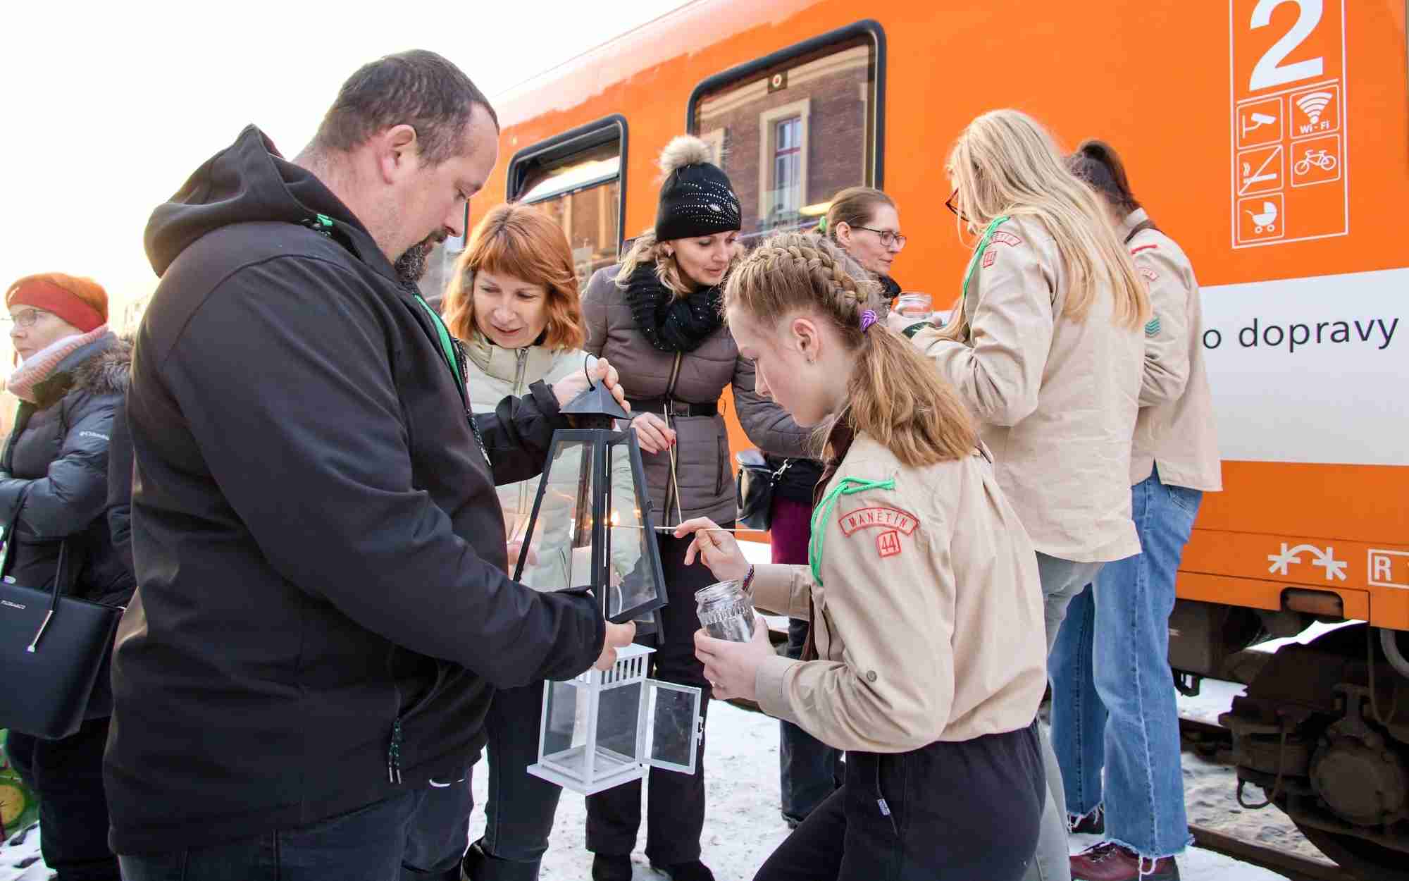
[[[106,509],[108,438],[131,347],[108,331],[107,292],[92,279],[31,275],[10,285],[4,299],[21,365],[6,383],[20,409],[0,454],[0,523],[14,520],[14,547],[0,575],[31,588],[62,578],[72,596],[125,606],[134,579],[114,547]],[[111,701],[100,681],[75,734],[41,740],[11,730],[6,743],[10,761],[39,795],[39,844],[59,881],[118,880],[103,792]]]

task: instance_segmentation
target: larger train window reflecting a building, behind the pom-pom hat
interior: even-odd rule
[[[743,207],[744,238],[810,228],[847,186],[881,186],[885,35],[864,21],[712,76],[689,128]]]

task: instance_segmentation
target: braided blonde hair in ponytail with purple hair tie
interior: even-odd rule
[[[861,328],[867,309],[881,313],[881,286],[831,241],[781,233],[758,245],[728,276],[724,309],[764,327],[797,313],[831,326],[855,357],[847,388],[848,420],[910,467],[968,455],[974,420],[926,358],[885,324]],[[824,429],[826,430],[826,426]]]

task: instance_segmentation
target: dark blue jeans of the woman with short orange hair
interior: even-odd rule
[[[489,734],[489,803],[480,854],[471,853],[472,881],[537,881],[562,789],[528,772],[538,761],[542,682],[495,692]]]

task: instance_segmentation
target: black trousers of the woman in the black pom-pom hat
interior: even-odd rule
[[[640,641],[655,648],[650,675],[704,691],[700,699],[700,713],[704,715],[709,710],[710,688],[704,681],[704,665],[695,657],[695,632],[700,629],[695,591],[707,588],[716,578],[702,564],[685,565],[689,538],[661,534],[658,541],[669,605],[657,612],[659,641],[655,641],[655,636]],[[703,737],[693,775],[651,768],[648,801],[645,856],[651,863],[668,865],[699,860],[700,832],[704,829]],[[640,827],[640,781],[588,796],[588,850],[626,856],[635,847]]]

